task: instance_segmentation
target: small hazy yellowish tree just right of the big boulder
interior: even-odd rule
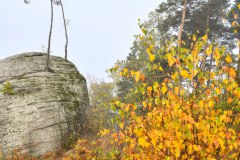
[[[110,127],[110,120],[114,116],[109,107],[113,101],[114,84],[97,80],[94,76],[88,76],[88,94],[90,107],[87,109],[87,126],[93,134],[100,129]]]

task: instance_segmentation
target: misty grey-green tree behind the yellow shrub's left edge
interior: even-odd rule
[[[133,94],[133,92],[130,92],[132,88],[136,85],[134,78],[128,78],[121,76],[119,78],[119,74],[126,74],[129,70],[141,70],[142,73],[144,73],[145,76],[145,82],[148,82],[149,84],[153,84],[155,81],[162,82],[164,78],[167,78],[167,72],[170,70],[170,68],[167,65],[167,62],[161,58],[164,56],[162,54],[164,52],[164,49],[162,48],[162,45],[164,44],[162,37],[160,36],[161,34],[157,30],[157,24],[159,15],[156,12],[152,12],[149,15],[149,20],[139,24],[140,28],[144,28],[143,30],[148,30],[149,33],[154,32],[154,36],[151,37],[152,41],[158,41],[159,43],[155,46],[155,48],[152,49],[152,53],[154,55],[154,63],[155,63],[155,72],[150,72],[149,68],[151,66],[148,66],[148,62],[150,61],[148,56],[149,56],[149,51],[147,50],[147,39],[141,40],[141,37],[136,36],[135,40],[133,42],[133,45],[130,49],[130,53],[128,54],[126,60],[124,61],[118,61],[116,62],[116,65],[119,67],[119,70],[122,72],[118,73],[112,73],[114,75],[111,75],[111,77],[114,79],[117,85],[117,96],[122,100],[122,101],[131,101],[134,102],[136,99],[141,98],[141,94]],[[161,51],[161,53],[159,52]],[[163,66],[164,72],[162,72],[160,64]],[[118,70],[118,71],[119,71]],[[162,74],[161,77],[156,76],[157,74]]]

